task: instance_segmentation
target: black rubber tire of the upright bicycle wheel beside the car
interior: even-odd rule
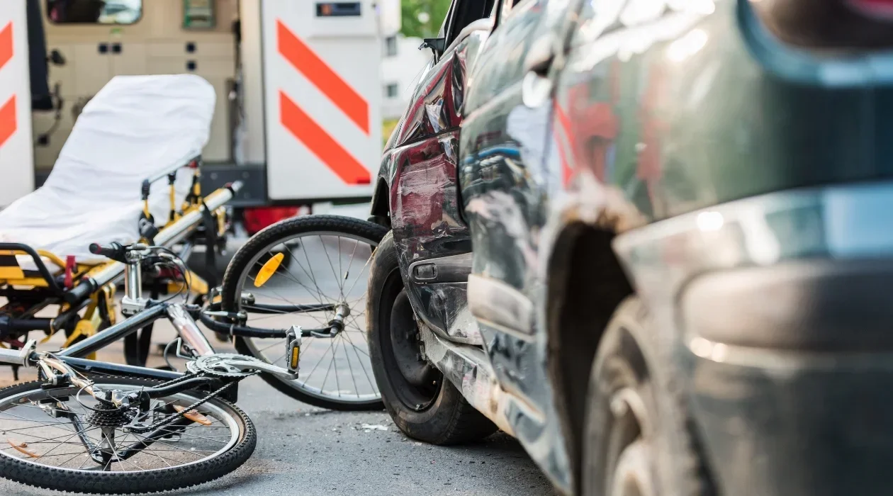
[[[223,283],[221,289],[221,302],[223,310],[237,311],[240,294],[238,294],[238,278],[245,272],[247,265],[261,250],[278,241],[284,241],[288,237],[298,236],[310,232],[331,232],[337,234],[345,234],[348,236],[360,237],[368,241],[379,243],[381,238],[388,232],[387,227],[381,227],[366,220],[354,219],[352,217],[342,217],[338,215],[308,215],[296,217],[292,219],[284,219],[264,227],[255,236],[251,236],[246,244],[238,249],[226,272],[223,274]],[[290,258],[289,258],[290,260]],[[241,337],[235,339],[236,350],[239,353],[253,356],[258,360],[264,360],[263,356],[257,356],[246,340]],[[305,393],[295,387],[284,382],[276,376],[269,374],[261,374],[261,377],[267,384],[273,386],[280,393],[303,401],[307,404],[335,410],[379,410],[383,408],[381,401],[365,401],[365,402],[339,402],[329,401],[319,396]]]

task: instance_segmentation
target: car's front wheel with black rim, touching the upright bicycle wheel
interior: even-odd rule
[[[497,426],[465,401],[462,393],[443,380],[430,364],[421,360],[413,364],[430,367],[426,372],[430,380],[425,384],[431,384],[427,392],[420,392],[420,386],[410,383],[401,372],[395,347],[402,343],[394,338],[395,333],[414,335],[418,327],[406,297],[391,233],[381,240],[372,257],[368,292],[366,329],[372,372],[394,424],[409,437],[432,444],[472,442],[496,432]]]

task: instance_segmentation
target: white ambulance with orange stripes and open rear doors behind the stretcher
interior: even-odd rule
[[[178,73],[217,94],[206,191],[241,180],[239,208],[368,201],[399,27],[399,0],[4,0],[0,208],[42,184],[110,79]]]

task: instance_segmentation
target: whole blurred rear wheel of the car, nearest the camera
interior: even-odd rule
[[[589,376],[585,496],[715,494],[672,351],[638,297],[622,302]]]

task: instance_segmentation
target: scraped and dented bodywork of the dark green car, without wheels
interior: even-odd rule
[[[659,332],[678,343],[681,386],[691,392],[709,465],[722,467],[716,475],[723,493],[805,487],[802,478],[780,480],[784,460],[766,447],[783,434],[777,427],[784,422],[813,419],[773,410],[775,424],[758,425],[759,410],[771,406],[757,401],[760,392],[724,389],[764,387],[764,375],[779,371],[753,364],[742,371],[717,365],[703,349],[698,355],[673,305],[695,276],[692,268],[828,256],[827,246],[809,252],[827,241],[826,229],[841,228],[823,209],[833,203],[846,213],[848,204],[834,203],[830,192],[797,211],[797,194],[784,192],[893,177],[893,62],[889,54],[836,60],[790,50],[748,24],[749,4],[522,0],[489,36],[480,35],[476,62],[455,62],[462,57],[447,51],[432,65],[391,137],[381,178],[404,280],[411,281],[409,267],[419,260],[473,247],[467,284],[407,285],[413,309],[446,350],[432,360],[457,371],[452,380],[466,398],[518,437],[561,492],[580,491],[579,460],[572,459],[579,453],[571,445],[582,433],[563,417],[566,399],[550,370],[550,362],[573,351],[549,341],[547,294],[549,285],[561,284],[549,268],[556,253],[566,252],[563,233],[580,225],[617,235],[615,252],[630,284]],[[531,78],[530,54],[548,37],[553,66]],[[461,77],[465,91],[456,94]],[[438,89],[447,87],[452,93]],[[554,88],[554,100],[528,99],[525,92],[536,87]],[[446,102],[447,93],[463,103]],[[432,119],[422,107],[436,103],[455,112],[433,112],[443,119]],[[735,217],[743,204],[735,202],[752,197],[741,210],[750,217]],[[855,203],[872,211],[871,202]],[[783,214],[768,215],[775,211]],[[872,245],[870,230],[858,233],[862,255],[889,256],[877,250],[893,247],[889,236]],[[451,329],[459,321],[471,321],[476,335]],[[488,364],[479,353],[459,363],[461,350],[444,340],[482,344]],[[789,395],[791,384],[764,392]],[[736,451],[733,442],[747,434],[762,437],[739,444],[751,451]],[[805,456],[788,452],[789,459]],[[759,465],[752,471],[751,461]],[[748,485],[749,475],[763,479]]]

